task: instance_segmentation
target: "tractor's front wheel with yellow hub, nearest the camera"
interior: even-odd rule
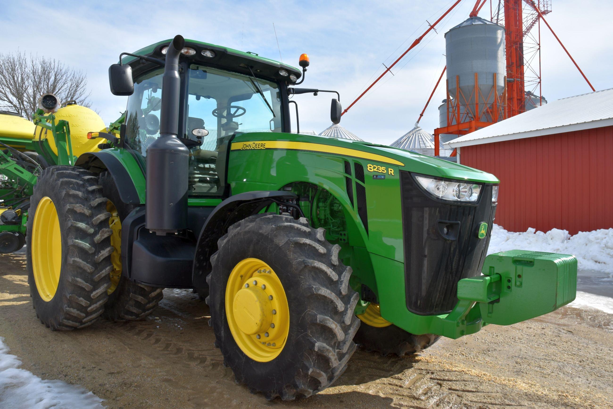
[[[345,371],[359,296],[339,250],[305,218],[271,213],[249,216],[219,239],[207,304],[215,344],[238,382],[268,400],[292,400]]]

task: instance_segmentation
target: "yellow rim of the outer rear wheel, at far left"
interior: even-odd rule
[[[40,298],[49,302],[58,291],[62,269],[62,235],[58,211],[47,196],[40,199],[32,223],[32,272]]]

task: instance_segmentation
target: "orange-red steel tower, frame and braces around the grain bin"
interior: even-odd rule
[[[409,48],[402,53],[389,67],[386,66],[386,70],[383,74],[379,75],[376,80],[371,83],[370,86],[364,90],[349,106],[343,111],[341,115],[345,115],[345,113],[351,109],[351,107],[356,104],[359,99],[361,99],[368,91],[377,83],[387,72],[390,71],[395,64],[398,63],[411,49],[413,49],[421,40],[430,32],[435,29],[435,26],[440,23],[441,20],[449,13],[455,6],[457,6],[460,1],[456,0],[454,4],[447,9],[446,12],[438,18],[432,25],[428,23],[428,29],[417,39],[414,40],[413,44],[409,46]],[[476,17],[481,11],[482,7],[485,5],[487,0],[476,0],[473,10],[470,13],[470,17]],[[525,2],[525,5],[524,5]],[[525,8],[524,8],[525,7]],[[526,85],[530,84],[530,91],[532,94],[536,91],[536,88],[539,89],[539,97],[540,103],[543,104],[543,93],[541,88],[541,20],[545,23],[547,28],[554,34],[558,43],[562,46],[568,57],[573,61],[574,66],[577,67],[577,70],[581,73],[585,82],[588,83],[592,91],[594,87],[587,79],[579,65],[574,61],[573,56],[570,55],[562,41],[555,34],[554,30],[551,28],[547,20],[545,20],[544,15],[547,15],[551,12],[551,0],[498,0],[498,7],[496,12],[494,12],[492,8],[492,0],[490,0],[490,20],[495,23],[500,23],[501,20],[504,20],[504,37],[505,37],[505,45],[506,45],[506,76],[504,77],[504,90],[503,93],[498,94],[496,91],[496,74],[494,75],[494,81],[492,85],[492,89],[489,91],[487,97],[479,91],[479,77],[477,73],[474,73],[474,93],[471,95],[464,95],[459,87],[459,77],[455,78],[456,82],[456,91],[454,100],[451,101],[449,94],[449,79],[446,80],[447,83],[447,126],[443,128],[436,128],[434,130],[434,155],[439,156],[439,143],[440,143],[440,135],[441,134],[457,134],[457,135],[465,135],[470,132],[476,131],[477,129],[484,128],[492,123],[496,123],[500,120],[504,120],[509,117],[513,117],[519,113],[525,112],[526,109]],[[538,37],[535,37],[531,34],[532,28],[538,25]],[[530,36],[530,41],[526,42],[525,39],[527,36]],[[525,53],[526,48],[528,49],[528,53]],[[538,72],[536,69],[533,69],[531,63],[533,59],[535,59],[536,55],[538,55]],[[424,109],[419,114],[419,118],[417,119],[417,123],[424,116],[425,109],[428,107],[430,100],[436,88],[438,88],[438,84],[443,78],[443,74],[447,67],[443,69],[441,76],[438,78],[432,93],[430,93],[430,97],[428,97],[428,101],[425,103]],[[530,76],[526,76],[526,70],[529,71]],[[531,75],[534,75],[532,77]],[[453,80],[453,79],[452,79]],[[473,99],[474,98],[474,99]],[[482,98],[482,99],[481,99]],[[484,101],[486,104],[485,109],[479,110],[479,101]],[[531,101],[531,99],[530,99]],[[471,104],[474,103],[474,109]],[[534,104],[534,102],[530,102]],[[463,108],[462,108],[463,107]],[[454,123],[453,123],[454,122]],[[450,125],[450,123],[452,123]],[[454,149],[451,156],[456,155],[456,150]]]

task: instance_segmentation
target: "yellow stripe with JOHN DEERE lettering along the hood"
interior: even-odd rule
[[[403,162],[396,159],[387,158],[387,156],[377,155],[376,153],[368,153],[356,149],[334,147],[331,145],[323,145],[322,143],[311,142],[291,142],[289,140],[253,140],[249,142],[233,142],[231,150],[254,150],[254,149],[289,149],[289,150],[305,150],[312,152],[330,153],[332,155],[353,156],[354,158],[370,159],[390,163],[392,165],[405,166]]]

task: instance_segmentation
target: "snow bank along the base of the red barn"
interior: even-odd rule
[[[613,229],[571,236],[566,230],[552,229],[543,233],[531,227],[525,232],[514,233],[494,224],[487,254],[515,249],[572,254],[579,261],[579,270],[613,273]]]

